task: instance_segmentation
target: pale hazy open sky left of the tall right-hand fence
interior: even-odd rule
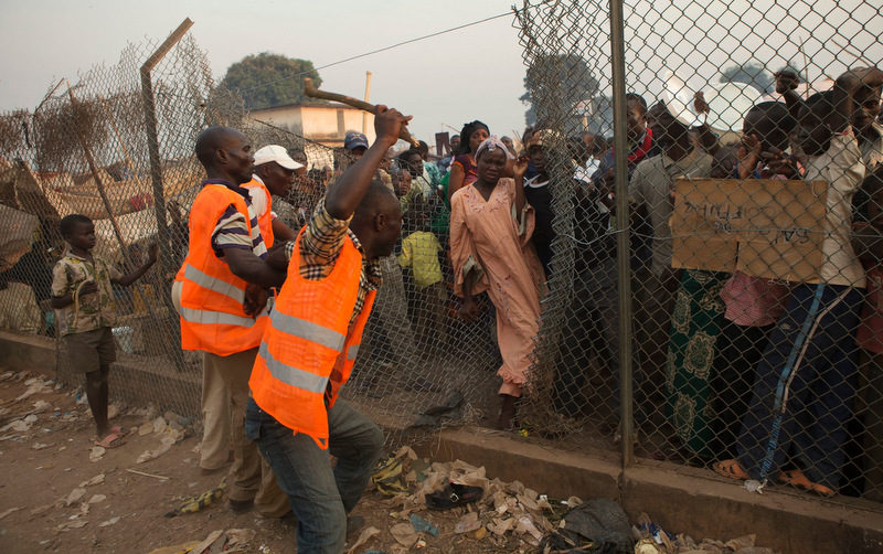
[[[0,0],[0,111],[33,110],[58,78],[75,82],[94,64],[114,64],[128,42],[162,41],[184,19],[215,77],[248,54],[273,52],[318,67],[435,31],[510,11],[512,0]],[[524,65],[513,18],[321,70],[322,88],[414,116],[412,134],[459,131],[481,119],[498,135],[523,129]],[[14,54],[13,54],[14,53]],[[447,127],[450,126],[450,127]]]

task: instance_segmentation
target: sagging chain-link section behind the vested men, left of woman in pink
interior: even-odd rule
[[[355,160],[344,148],[265,121],[243,128],[253,145],[279,145],[295,160],[307,160],[288,196],[273,203],[292,230],[308,222],[327,184]],[[387,433],[391,443],[421,439],[450,422],[479,423],[492,405],[499,354],[488,313],[474,323],[456,316],[446,254],[449,210],[436,192],[440,174],[402,147],[390,152],[375,179],[400,198],[402,232],[395,253],[380,262],[383,285],[343,394],[387,429],[403,429]]]

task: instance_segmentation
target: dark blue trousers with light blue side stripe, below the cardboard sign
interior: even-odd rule
[[[858,377],[863,289],[798,285],[769,333],[737,438],[752,479],[775,479],[789,456],[810,481],[837,490]]]

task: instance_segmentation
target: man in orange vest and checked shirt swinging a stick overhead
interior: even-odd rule
[[[340,388],[381,285],[377,260],[392,253],[402,228],[398,200],[372,178],[409,119],[377,107],[376,141],[270,259],[288,276],[252,370],[245,430],[288,494],[301,554],[343,552],[347,513],[383,448],[383,433]]]

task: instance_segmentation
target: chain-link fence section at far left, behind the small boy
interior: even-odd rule
[[[95,253],[121,274],[147,259],[147,247],[157,242],[160,222],[180,228],[180,221],[167,220],[159,206],[162,200],[185,196],[202,178],[202,168],[187,142],[212,118],[209,103],[213,82],[204,53],[189,35],[156,72],[153,94],[162,157],[158,194],[151,179],[138,71],[157,46],[152,42],[129,44],[117,64],[95,66],[73,83],[61,79],[54,84],[33,114],[2,117],[9,128],[0,152],[4,204],[17,214],[35,216],[26,230],[14,230],[28,236],[26,246],[3,253],[7,260],[14,262],[4,274],[6,292],[32,290],[24,295],[21,309],[4,306],[9,328],[56,337],[72,324],[91,324],[56,319],[58,312],[51,309],[53,292],[74,292],[53,291],[52,285],[53,271],[65,271],[56,266],[65,251],[58,228],[64,216],[83,214],[92,219],[98,238]],[[130,370],[123,379],[137,383],[126,387],[137,391],[129,399],[193,413],[193,406],[199,406],[200,366],[182,353],[175,339],[178,316],[167,291],[177,270],[173,253],[180,249],[180,241],[178,234],[162,245],[158,267],[130,287],[95,295],[94,302],[84,295],[84,303],[95,305],[83,306],[82,311],[97,321],[103,308],[116,307],[113,333],[117,365]],[[74,353],[67,351],[65,341],[56,344],[61,379],[81,385]]]

